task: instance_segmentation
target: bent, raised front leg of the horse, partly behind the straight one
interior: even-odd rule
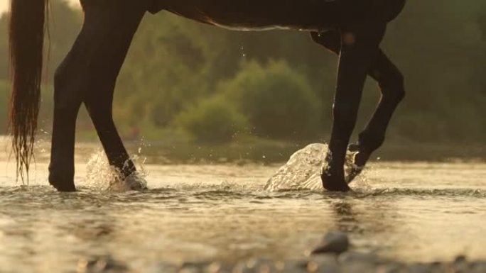
[[[311,33],[311,37],[316,43],[339,54],[341,41],[340,34],[337,31],[328,31],[320,34]],[[382,97],[365,130],[360,133],[358,143],[349,147],[352,152],[357,153],[354,158],[354,169],[352,169],[350,176],[347,177],[347,182],[351,182],[352,179],[360,174],[372,152],[384,143],[389,121],[396,106],[399,105],[405,96],[404,77],[382,50],[379,50],[368,74],[378,82],[382,91]]]

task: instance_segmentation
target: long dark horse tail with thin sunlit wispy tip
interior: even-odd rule
[[[46,13],[48,0],[11,0],[10,3],[9,132],[16,157],[17,179],[20,177],[22,182],[25,178],[28,181],[41,103]]]

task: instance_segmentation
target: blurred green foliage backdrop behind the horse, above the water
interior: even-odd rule
[[[63,1],[51,6],[48,86],[82,23],[81,11]],[[6,26],[3,16],[4,82]],[[407,90],[389,138],[484,143],[484,0],[410,0],[389,24],[383,48],[404,72]],[[336,64],[337,58],[307,33],[233,32],[169,13],[147,14],[119,76],[114,116],[125,136],[139,128],[142,135],[182,128],[193,139],[212,143],[243,131],[260,138],[321,140],[330,130]],[[6,116],[6,84],[0,89],[0,114]],[[45,90],[41,127],[49,130],[52,88]],[[378,99],[377,85],[369,81],[358,129]],[[78,128],[92,130],[86,115],[80,116]],[[0,130],[5,130],[4,123]]]

